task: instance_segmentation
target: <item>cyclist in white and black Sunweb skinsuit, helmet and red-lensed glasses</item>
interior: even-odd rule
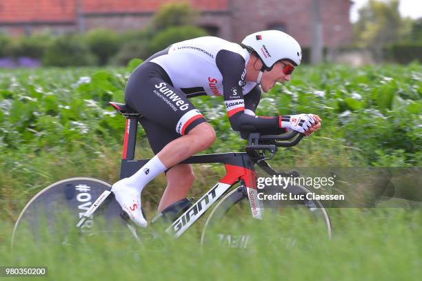
[[[131,74],[125,102],[143,115],[141,125],[155,156],[136,174],[112,186],[117,202],[138,226],[147,222],[141,211],[141,191],[166,171],[168,185],[159,211],[185,198],[194,181],[182,160],[207,149],[215,132],[188,100],[193,96],[223,96],[232,129],[265,134],[296,130],[310,135],[321,127],[314,114],[255,116],[261,90],[290,81],[301,63],[301,47],[277,30],[250,34],[242,45],[217,37],[200,37],[170,45],[144,61]]]

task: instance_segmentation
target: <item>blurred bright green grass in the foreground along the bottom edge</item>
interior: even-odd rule
[[[201,249],[196,231],[180,240],[139,245],[128,237],[78,240],[74,246],[27,238],[10,251],[0,244],[0,264],[47,266],[45,280],[419,280],[422,273],[422,212],[406,209],[331,209],[332,240],[293,227],[303,243],[267,243],[250,249]],[[2,232],[12,225],[3,222]],[[264,239],[265,238],[265,239]],[[317,242],[314,242],[314,241]]]

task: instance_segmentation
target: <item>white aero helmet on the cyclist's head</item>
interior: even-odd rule
[[[263,70],[271,70],[274,63],[282,59],[290,61],[295,66],[301,64],[301,46],[289,34],[279,30],[255,32],[245,37],[242,44],[257,52],[265,65]]]

